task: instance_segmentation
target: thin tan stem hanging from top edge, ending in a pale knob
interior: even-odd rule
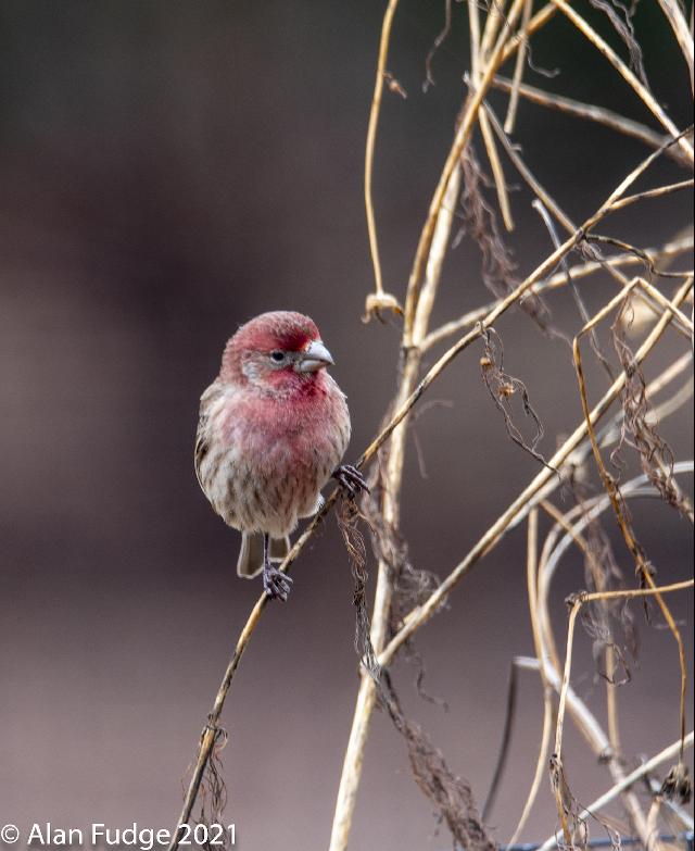
[[[369,126],[367,127],[367,145],[365,151],[365,211],[367,215],[367,231],[369,234],[369,250],[371,252],[371,263],[374,265],[375,296],[370,302],[367,300],[366,318],[380,308],[388,306],[391,310],[395,306],[395,300],[391,297],[390,303],[387,303],[383,291],[383,280],[381,276],[381,261],[379,259],[379,242],[377,240],[377,224],[374,214],[374,200],[371,196],[371,176],[374,174],[374,152],[377,142],[377,127],[379,125],[379,111],[381,109],[381,97],[383,95],[383,80],[387,72],[387,58],[389,55],[389,40],[391,38],[391,25],[393,15],[399,4],[399,0],[389,0],[389,5],[383,15],[381,25],[381,39],[379,42],[379,59],[377,61],[377,75],[374,84],[374,96],[371,98],[371,109],[369,111]]]

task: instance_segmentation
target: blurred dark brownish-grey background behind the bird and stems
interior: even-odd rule
[[[399,354],[394,320],[361,321],[372,279],[364,139],[383,10],[363,0],[2,5],[0,823],[175,824],[187,765],[260,591],[237,579],[239,536],[212,513],[192,468],[198,399],[237,326],[269,309],[311,314],[350,398],[350,455],[376,433]],[[454,3],[452,33],[433,60],[435,85],[422,92],[444,11],[443,2],[403,0],[388,63],[407,99],[384,95],[375,201],[387,288],[400,297],[469,67],[465,7]],[[653,89],[685,126],[687,74],[658,5],[643,0],[635,25]],[[533,62],[560,73],[529,72],[528,82],[649,122],[566,21],[539,37]],[[491,102],[504,114],[503,96]],[[523,101],[515,140],[577,221],[646,153]],[[641,186],[669,177],[681,172],[667,160]],[[511,198],[522,274],[549,243],[530,196],[519,188]],[[611,233],[658,245],[686,221],[691,200],[635,205]],[[602,276],[584,291],[597,306],[615,284]],[[464,239],[450,252],[435,321],[489,299],[478,250]],[[560,326],[577,327],[566,293],[549,303]],[[565,345],[518,311],[498,330],[506,366],[529,387],[547,434],[569,431],[581,410]],[[684,346],[667,333],[647,375]],[[403,528],[415,564],[440,576],[538,468],[507,439],[479,356],[476,347],[467,351],[431,389],[430,399],[451,405],[428,408],[408,445]],[[605,386],[590,370],[592,398]],[[688,417],[668,421],[665,435],[678,458],[691,455]],[[541,445],[546,454],[553,441]],[[691,527],[660,502],[634,511],[659,578],[686,577]],[[612,534],[610,520],[607,528]],[[614,540],[630,576],[629,554]],[[254,635],[223,717],[227,815],[245,851],[327,846],[354,706],[352,578],[333,518],[294,575],[289,603],[271,605]],[[563,599],[583,584],[581,558],[570,553],[554,591],[560,635]],[[692,624],[687,596],[673,606]],[[672,640],[664,629],[640,629],[640,665],[619,697],[631,766],[678,734]],[[577,643],[574,685],[604,718],[591,641],[579,633]],[[521,529],[462,584],[417,646],[427,688],[448,711],[420,700],[415,672],[400,664],[404,704],[482,800],[509,662],[532,653]],[[523,675],[510,765],[491,816],[501,841],[531,781],[541,704],[538,680]],[[587,803],[608,774],[571,725],[567,735],[566,767]],[[352,847],[446,848],[431,809],[403,740],[377,713]],[[523,838],[555,827],[544,781]]]

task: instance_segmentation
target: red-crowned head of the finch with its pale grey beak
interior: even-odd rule
[[[308,316],[292,311],[262,313],[242,325],[227,342],[223,381],[260,389],[306,387],[333,363]]]

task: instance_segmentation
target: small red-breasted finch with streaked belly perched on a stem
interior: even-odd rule
[[[345,396],[326,372],[333,359],[301,313],[273,311],[242,325],[225,347],[219,375],[201,397],[195,474],[211,505],[242,533],[237,573],[263,572],[270,598],[292,579],[282,561],[300,517],[323,504],[337,478],[351,496],[367,486],[340,461],[350,440]]]

